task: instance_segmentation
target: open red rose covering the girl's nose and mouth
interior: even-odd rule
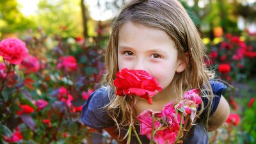
[[[156,95],[156,90],[163,90],[158,86],[159,83],[156,79],[145,70],[128,70],[127,68],[116,73],[114,85],[116,86],[116,95],[138,95],[138,97],[146,99],[148,104],[152,104],[151,97]]]

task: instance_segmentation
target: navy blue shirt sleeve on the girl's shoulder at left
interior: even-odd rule
[[[114,123],[104,108],[109,102],[108,88],[102,87],[93,92],[83,105],[81,120],[84,124],[94,129],[113,126]]]

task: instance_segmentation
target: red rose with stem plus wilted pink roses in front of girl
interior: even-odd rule
[[[124,68],[116,73],[116,79],[113,83],[116,86],[116,95],[122,97],[129,95],[132,99],[134,96],[138,96],[146,99],[148,104],[152,104],[151,97],[156,95],[156,91],[163,89],[158,86],[159,83],[156,79],[145,70]],[[198,93],[199,90],[197,89],[189,90],[180,102],[168,103],[161,112],[154,112],[151,109],[143,111],[136,116],[140,122],[140,134],[146,135],[150,139],[150,143],[153,141],[159,144],[180,142],[184,129],[189,129],[187,127],[188,122],[195,122],[196,110],[202,102]],[[133,101],[131,102],[131,116],[132,106]],[[131,138],[131,127],[134,127],[132,120],[129,127],[128,143]],[[134,133],[137,134],[136,131]],[[140,142],[140,140],[138,141]]]

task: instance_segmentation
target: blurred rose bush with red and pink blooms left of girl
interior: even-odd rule
[[[26,45],[7,40],[13,43],[1,40],[0,49],[0,143],[90,141],[98,131],[80,113],[104,73],[99,45],[43,33],[26,36]]]

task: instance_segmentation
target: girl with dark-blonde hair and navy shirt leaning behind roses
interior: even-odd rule
[[[125,143],[131,100],[115,96],[113,79],[122,68],[146,70],[163,88],[147,100],[138,99],[135,115],[145,109],[161,111],[164,105],[190,89],[200,89],[202,105],[196,125],[182,140],[184,143],[209,143],[207,132],[220,127],[229,115],[227,101],[221,96],[226,86],[212,81],[213,74],[204,65],[205,47],[193,21],[177,0],[132,0],[113,22],[106,49],[107,73],[99,90],[83,106],[84,124],[105,129]],[[136,127],[140,132],[140,127]],[[132,136],[131,143],[138,143]],[[149,143],[140,136],[142,143]]]

